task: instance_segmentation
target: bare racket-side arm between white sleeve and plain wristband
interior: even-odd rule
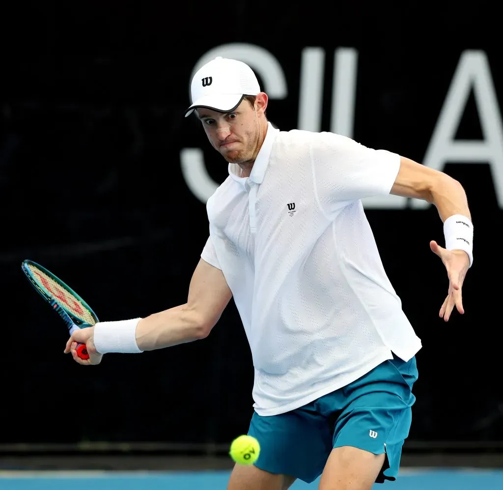
[[[231,297],[222,271],[201,259],[192,276],[187,303],[139,321],[136,327],[138,348],[152,351],[204,339]]]

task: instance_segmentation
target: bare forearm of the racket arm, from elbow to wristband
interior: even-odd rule
[[[210,330],[183,304],[142,318],[136,326],[136,343],[142,351],[153,351],[203,339]]]

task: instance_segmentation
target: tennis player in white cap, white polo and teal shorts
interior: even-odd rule
[[[98,364],[107,352],[142,352],[206,337],[234,297],[253,355],[261,443],[236,465],[230,490],[284,490],[296,478],[320,490],[369,490],[394,480],[408,436],[415,354],[421,348],[381,263],[361,199],[426,199],[444,222],[446,321],[463,313],[472,263],[465,192],[447,175],[332,133],[283,132],[244,63],[216,58],[192,80],[195,112],[228,162],[207,204],[209,238],[187,303],[146,318],[101,322],[65,352]],[[90,359],[76,357],[85,343]]]

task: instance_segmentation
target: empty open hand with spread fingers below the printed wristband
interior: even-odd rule
[[[461,295],[461,287],[466,276],[466,271],[470,266],[470,259],[468,254],[462,250],[446,250],[441,247],[436,241],[430,241],[430,248],[432,252],[438,255],[447,270],[447,277],[449,278],[449,293],[445,298],[444,304],[440,308],[439,316],[449,321],[454,306],[463,314],[463,301]]]

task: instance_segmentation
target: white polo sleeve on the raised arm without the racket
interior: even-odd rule
[[[318,200],[328,212],[348,201],[389,194],[400,168],[397,153],[334,133],[318,133],[310,152]]]

